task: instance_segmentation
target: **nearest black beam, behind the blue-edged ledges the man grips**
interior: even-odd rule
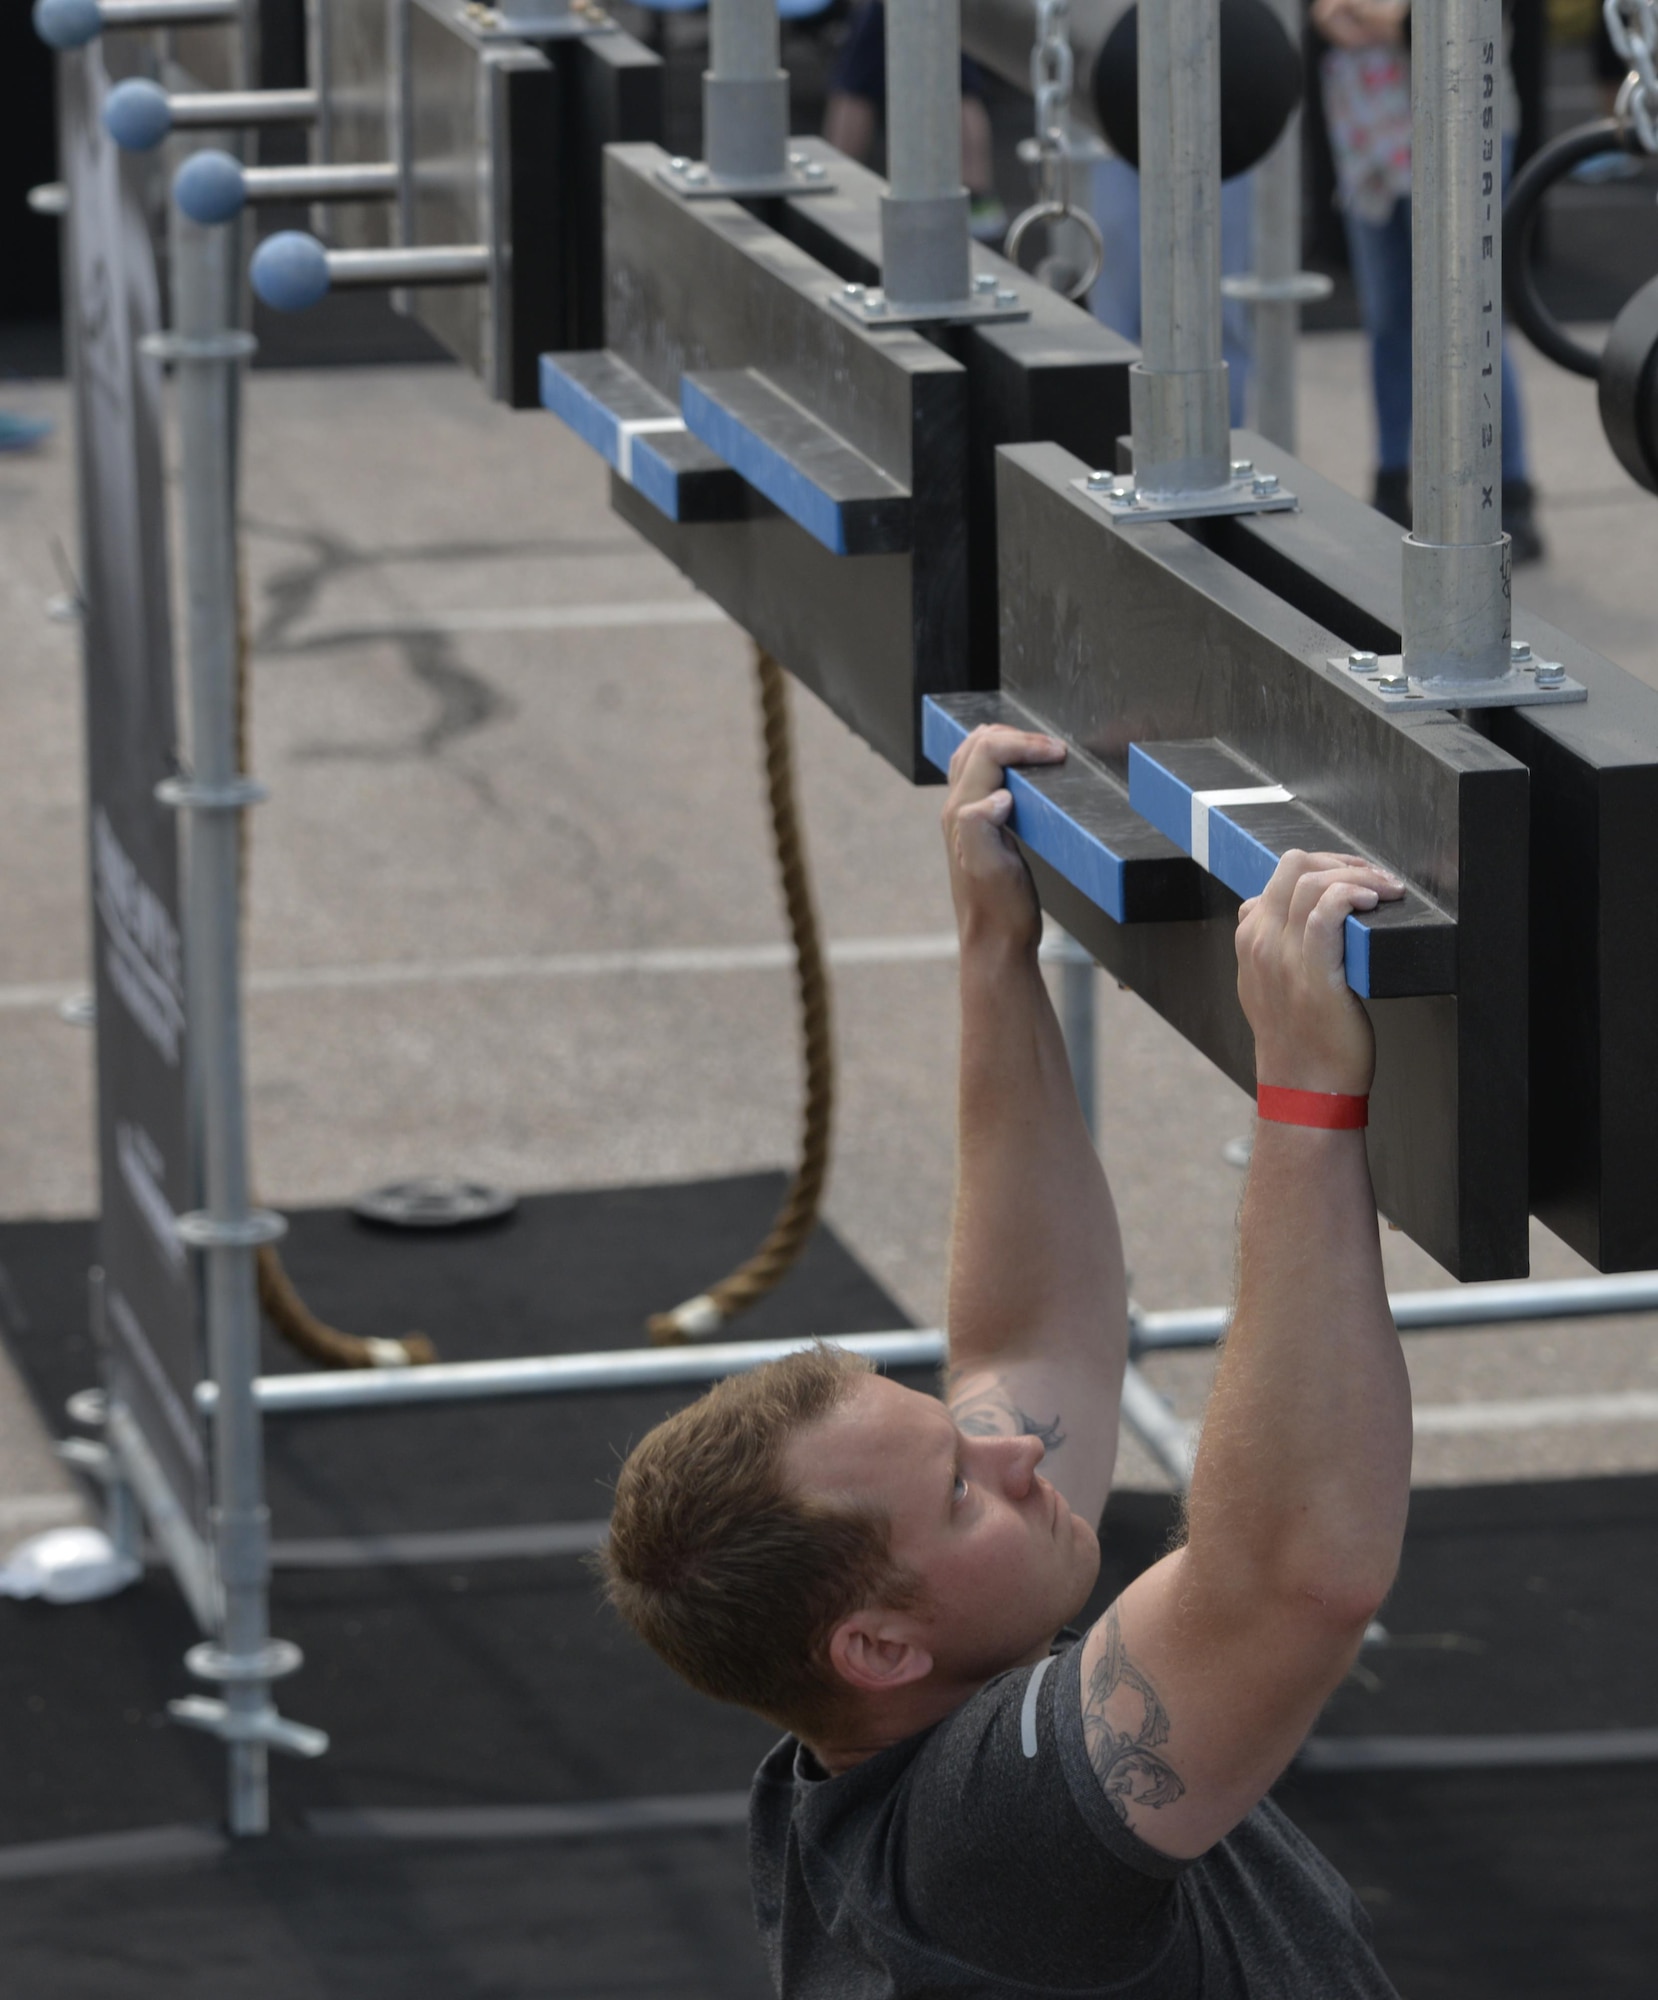
[[[1370,1006],[1376,1196],[1456,1276],[1522,1276],[1524,766],[1450,716],[1378,710],[1326,664],[1336,632],[1196,534],[1112,522],[1074,490],[1080,472],[1054,446],[1000,454],[1006,690],[1120,774],[1132,742],[1220,738],[1456,918],[1456,996]],[[1052,916],[1252,1088],[1236,900],[1216,886],[1204,922],[1118,926],[1040,858],[1032,868]]]

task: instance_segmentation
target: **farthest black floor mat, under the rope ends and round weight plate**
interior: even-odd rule
[[[782,1200],[774,1174],[692,1188],[532,1196],[504,1224],[388,1232],[336,1208],[290,1216],[282,1256],[306,1302],[358,1334],[424,1332],[442,1360],[640,1348],[650,1312],[732,1270]],[[86,1330],[90,1226],[0,1228],[0,1266],[26,1318],[12,1336],[48,1422],[94,1380]],[[0,1302],[4,1288],[0,1288]],[[4,1308],[0,1306],[0,1316]],[[804,1256],[732,1338],[878,1332],[900,1308],[818,1230]],[[264,1368],[308,1366],[266,1334]],[[688,1396],[636,1392],[452,1404],[374,1416],[280,1418],[266,1426],[276,1536],[478,1528],[592,1520],[640,1432]]]

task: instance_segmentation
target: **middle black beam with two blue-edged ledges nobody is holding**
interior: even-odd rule
[[[680,200],[658,178],[662,160],[654,146],[606,158],[610,350],[674,404],[688,374],[758,370],[910,496],[910,548],[834,556],[758,492],[746,520],[706,526],[668,520],[620,480],[612,504],[904,776],[920,776],[920,694],[968,680],[966,370],[916,332],[852,322],[832,304],[834,272],[734,202]]]

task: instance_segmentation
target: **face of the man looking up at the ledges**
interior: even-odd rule
[[[788,1450],[790,1484],[880,1508],[924,1598],[910,1618],[944,1682],[1040,1658],[1094,1588],[1100,1542],[1036,1470],[1040,1438],[968,1438],[942,1402],[862,1376]]]

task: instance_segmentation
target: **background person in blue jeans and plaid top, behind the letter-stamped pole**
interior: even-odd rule
[[[1410,528],[1410,0],[1314,0],[1312,26],[1328,44],[1318,64],[1324,116],[1358,310],[1370,336],[1374,506]],[[1506,54],[1502,70],[1506,184],[1520,112]],[[1506,340],[1502,526],[1516,566],[1542,560],[1520,382]]]

